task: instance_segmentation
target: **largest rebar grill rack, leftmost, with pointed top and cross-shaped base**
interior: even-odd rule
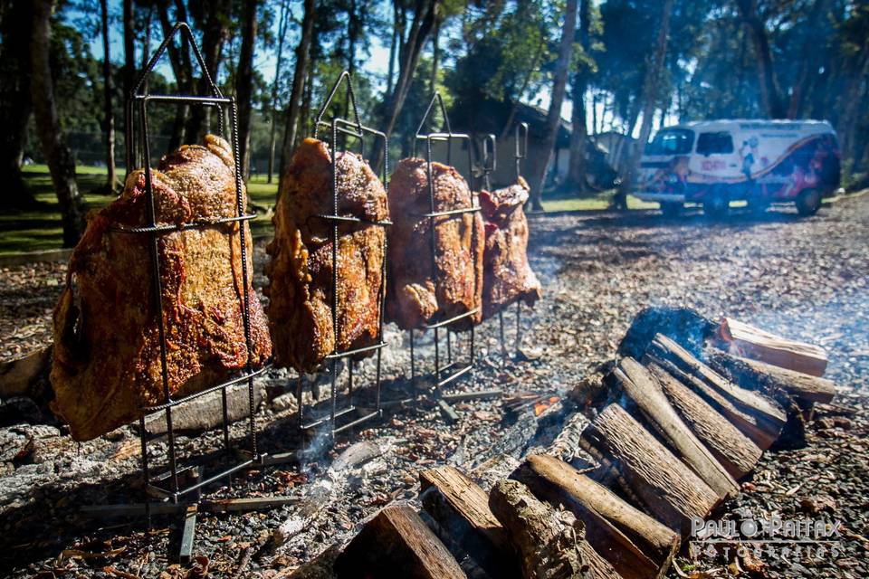
[[[208,81],[209,94],[205,96],[190,96],[190,95],[162,95],[150,94],[148,90],[142,90],[148,74],[154,70],[158,61],[167,51],[169,43],[172,43],[177,34],[185,34],[186,40],[193,48],[196,55],[196,62],[199,63],[202,73]],[[146,208],[147,208],[147,224],[142,227],[121,227],[115,226],[112,228],[113,234],[118,235],[144,235],[148,238],[149,260],[151,266],[152,278],[152,295],[153,295],[153,311],[158,320],[158,336],[160,341],[160,368],[161,378],[163,383],[163,402],[154,406],[142,408],[143,416],[139,419],[139,437],[141,443],[142,454],[142,474],[145,483],[146,497],[144,503],[132,505],[102,505],[90,508],[83,508],[85,513],[92,516],[141,516],[145,515],[150,526],[150,518],[152,515],[175,513],[184,516],[184,527],[181,537],[181,547],[178,559],[181,563],[186,563],[190,560],[193,550],[193,541],[196,533],[196,513],[199,511],[241,511],[253,510],[256,508],[274,507],[286,502],[295,500],[287,497],[273,498],[228,498],[215,501],[202,500],[202,491],[205,487],[217,482],[223,481],[227,488],[232,486],[232,475],[247,467],[259,465],[263,463],[263,455],[257,451],[256,441],[256,425],[254,421],[254,395],[253,395],[253,377],[263,372],[265,368],[254,369],[251,360],[251,328],[250,328],[250,304],[251,300],[255,299],[248,291],[248,260],[247,245],[245,240],[244,222],[250,221],[256,217],[255,214],[247,214],[244,211],[244,197],[242,195],[242,177],[240,172],[235,171],[235,215],[232,217],[224,217],[215,221],[186,223],[183,225],[158,224],[155,208],[154,192],[152,188],[152,175],[150,169],[150,135],[148,131],[148,105],[157,104],[186,104],[189,106],[211,107],[216,109],[218,133],[224,132],[224,113],[226,109],[229,111],[232,125],[232,147],[233,158],[238,166],[238,133],[237,133],[237,112],[235,100],[233,97],[224,97],[221,91],[215,85],[214,80],[210,77],[205,61],[196,44],[193,33],[186,23],[177,23],[168,34],[167,38],[160,44],[157,52],[148,61],[144,71],[138,78],[138,81],[128,96],[126,102],[126,127],[129,138],[127,139],[127,170],[130,171],[134,166],[134,161],[137,161],[144,167],[145,173],[145,190],[146,190]],[[137,123],[138,120],[138,123]],[[138,128],[138,137],[136,137],[135,129]],[[136,147],[136,141],[139,140]],[[138,151],[137,151],[138,149]],[[136,154],[138,152],[138,155]],[[196,394],[190,394],[180,398],[173,398],[169,388],[168,365],[167,365],[167,339],[163,320],[163,299],[160,280],[160,258],[159,258],[159,239],[161,236],[168,233],[176,233],[189,229],[208,229],[224,227],[229,223],[239,223],[237,227],[238,241],[240,243],[240,257],[242,262],[242,281],[243,295],[242,303],[243,320],[244,320],[244,339],[247,346],[248,359],[245,363],[244,370],[235,375],[234,378],[226,380],[221,384],[215,384]],[[226,264],[227,268],[232,268],[232,263]],[[247,384],[248,394],[248,427],[247,427],[247,448],[234,447],[230,440],[229,432],[229,412],[227,405],[226,389],[234,384]],[[200,396],[220,392],[223,404],[223,439],[224,451],[226,460],[224,464],[230,464],[229,467],[218,467],[216,472],[207,473],[205,475],[205,463],[208,460],[202,456],[187,457],[191,463],[185,466],[179,464],[177,451],[177,433],[173,428],[172,413],[177,406],[189,402]],[[148,460],[148,442],[149,436],[146,430],[146,416],[163,413],[167,425],[167,467],[166,470],[155,474],[153,467]],[[157,497],[158,499],[154,499]]]

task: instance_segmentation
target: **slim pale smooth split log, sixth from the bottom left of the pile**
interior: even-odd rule
[[[685,425],[643,365],[634,358],[623,358],[612,375],[625,394],[625,410],[638,410],[670,450],[718,493],[719,498],[735,497],[739,493],[736,480]]]

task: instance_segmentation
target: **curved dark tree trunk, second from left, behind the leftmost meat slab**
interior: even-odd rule
[[[53,0],[33,2],[33,30],[30,43],[31,90],[36,132],[52,174],[52,185],[61,205],[63,247],[74,247],[84,232],[84,204],[75,181],[75,159],[66,140],[54,105],[54,87],[49,64]]]

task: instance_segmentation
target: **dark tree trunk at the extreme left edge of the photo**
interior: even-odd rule
[[[30,33],[33,23],[30,0],[15,0],[6,8],[0,34],[0,172],[5,176],[3,207],[28,208],[36,199],[24,185],[21,164],[24,158],[24,137],[32,108],[30,90]]]

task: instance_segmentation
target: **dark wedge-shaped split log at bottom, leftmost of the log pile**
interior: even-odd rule
[[[423,519],[393,505],[368,521],[335,561],[339,578],[466,579],[462,568]]]

